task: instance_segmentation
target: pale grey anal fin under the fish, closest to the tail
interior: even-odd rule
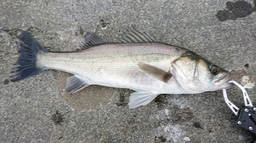
[[[88,84],[86,81],[78,78],[77,76],[73,75],[67,78],[66,88],[63,90],[62,95],[70,94],[70,93],[76,93],[86,87],[88,87],[90,84]]]

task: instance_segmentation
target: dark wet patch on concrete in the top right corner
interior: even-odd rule
[[[236,3],[227,2],[227,10],[218,11],[216,16],[220,21],[225,20],[236,20],[237,18],[242,18],[250,15],[252,12],[256,11],[256,1],[254,0],[254,7],[245,1],[238,1]]]

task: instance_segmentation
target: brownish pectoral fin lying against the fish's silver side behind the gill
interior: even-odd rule
[[[170,78],[172,78],[172,74],[162,70],[162,69],[159,69],[157,67],[154,67],[154,66],[151,66],[151,65],[148,65],[148,64],[144,64],[144,63],[141,63],[139,62],[138,63],[138,67],[139,69],[144,72],[147,76],[150,76],[150,77],[153,77],[153,78],[156,78],[160,81],[163,81],[165,83],[168,82],[168,80]]]

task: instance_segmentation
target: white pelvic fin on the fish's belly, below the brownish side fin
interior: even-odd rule
[[[135,90],[135,89],[133,89]],[[151,91],[135,90],[137,92],[132,93],[129,99],[129,108],[136,108],[141,105],[146,105],[155,99],[159,94]]]

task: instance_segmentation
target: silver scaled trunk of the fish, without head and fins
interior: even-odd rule
[[[40,68],[69,72],[88,84],[182,94],[188,92],[182,90],[174,79],[165,83],[147,76],[139,69],[138,63],[168,71],[183,51],[163,43],[111,43],[80,52],[41,52],[37,60]]]

